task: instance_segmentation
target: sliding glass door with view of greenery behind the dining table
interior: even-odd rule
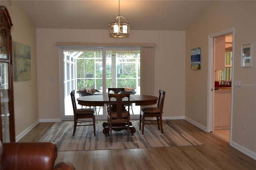
[[[95,88],[106,95],[108,87],[127,87],[140,94],[140,50],[127,48],[66,48],[60,65],[62,88],[60,92],[62,119],[73,117],[70,92]],[[76,97],[80,97],[76,93]],[[77,104],[77,107],[82,107]],[[139,107],[133,106],[134,115]],[[137,111],[136,111],[137,110]],[[96,107],[96,118],[106,118],[106,108]]]

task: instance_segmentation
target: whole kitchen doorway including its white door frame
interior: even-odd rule
[[[209,36],[208,132],[231,141],[234,28]]]

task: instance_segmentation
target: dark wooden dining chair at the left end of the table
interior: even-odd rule
[[[70,93],[71,101],[73,105],[73,111],[74,111],[74,130],[73,130],[73,136],[76,132],[77,126],[90,126],[93,125],[93,132],[95,136],[95,116],[94,116],[94,109],[77,109],[76,108],[76,98],[75,98],[75,91],[71,91]],[[83,119],[83,120],[78,120]],[[84,120],[87,119],[87,120]],[[88,124],[88,122],[92,122],[92,124]]]

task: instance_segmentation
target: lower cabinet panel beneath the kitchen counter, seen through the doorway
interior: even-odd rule
[[[231,115],[231,88],[214,90],[214,130],[229,129]]]

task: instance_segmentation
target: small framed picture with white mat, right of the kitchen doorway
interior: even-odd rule
[[[241,45],[241,67],[252,67],[252,43]]]

